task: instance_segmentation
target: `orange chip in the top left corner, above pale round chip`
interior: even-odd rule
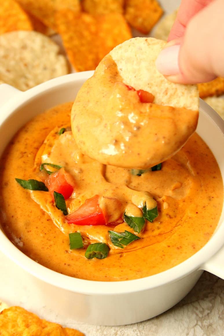
[[[33,30],[33,25],[17,2],[4,0],[0,5],[0,34],[15,30]]]

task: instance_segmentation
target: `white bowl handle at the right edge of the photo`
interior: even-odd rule
[[[208,261],[200,266],[200,269],[204,269],[217,277],[224,280],[224,246]]]

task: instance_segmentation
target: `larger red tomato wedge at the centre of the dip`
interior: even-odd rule
[[[89,198],[78,210],[66,216],[68,223],[78,225],[105,225],[106,220],[99,207],[99,195]]]

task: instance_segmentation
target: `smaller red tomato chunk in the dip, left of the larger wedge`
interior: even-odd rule
[[[49,175],[46,180],[46,185],[52,199],[54,199],[54,191],[62,194],[66,200],[72,195],[74,190],[73,177],[67,173],[64,168],[61,168]]]

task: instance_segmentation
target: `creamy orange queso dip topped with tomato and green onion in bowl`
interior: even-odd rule
[[[36,116],[1,158],[1,224],[9,239],[50,269],[98,281],[150,276],[203,247],[223,204],[206,143],[193,133],[175,155],[145,169],[103,164],[77,145],[72,106]]]

